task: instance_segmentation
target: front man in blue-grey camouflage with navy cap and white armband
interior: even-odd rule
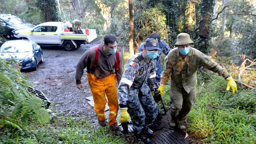
[[[143,52],[128,60],[118,87],[120,123],[127,122],[131,116],[134,135],[145,143],[150,140],[142,134],[149,137],[153,135],[147,125],[152,123],[158,114],[158,106],[151,94],[154,91],[157,63],[155,58],[158,56],[158,50],[158,41],[147,39]]]

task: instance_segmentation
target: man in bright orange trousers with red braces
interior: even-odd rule
[[[104,43],[98,44],[85,51],[76,66],[76,87],[82,89],[81,78],[83,69],[87,68],[87,79],[93,101],[94,109],[101,126],[107,126],[105,117],[106,97],[109,105],[109,126],[112,131],[119,130],[117,126],[117,83],[122,77],[122,58],[117,50],[115,35],[106,35]]]

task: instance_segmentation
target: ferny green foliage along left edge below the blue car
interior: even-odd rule
[[[48,112],[43,102],[26,89],[30,85],[19,72],[19,64],[0,59],[0,133],[3,142],[21,135],[30,122],[45,124]]]

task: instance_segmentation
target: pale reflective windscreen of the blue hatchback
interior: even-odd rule
[[[32,44],[26,41],[5,42],[0,47],[0,53],[30,52]]]

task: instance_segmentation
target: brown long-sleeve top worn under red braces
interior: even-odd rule
[[[93,63],[95,60],[95,46],[89,48],[84,52],[82,57],[79,59],[76,66],[76,84],[81,84],[81,78],[83,76],[83,70],[87,68],[87,72],[93,74],[96,78],[105,78],[111,73],[115,72],[116,69],[116,54],[106,55],[103,52],[104,43],[98,44],[99,46],[99,57],[98,64],[93,73]],[[119,70],[116,73],[117,82],[122,78],[122,57],[119,56]]]

